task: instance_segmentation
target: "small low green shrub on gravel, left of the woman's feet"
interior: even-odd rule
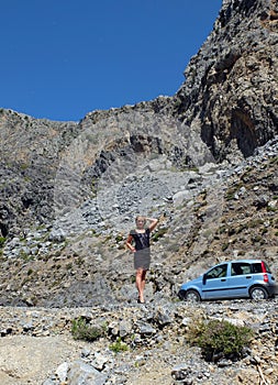
[[[75,340],[96,341],[104,334],[104,329],[91,326],[85,317],[78,317],[71,321],[71,334]]]

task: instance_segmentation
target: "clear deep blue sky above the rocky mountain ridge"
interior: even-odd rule
[[[79,121],[174,95],[222,0],[0,0],[0,108]]]

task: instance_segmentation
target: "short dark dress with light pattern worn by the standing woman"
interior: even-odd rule
[[[134,268],[148,270],[151,263],[149,229],[145,229],[143,233],[132,230],[130,234],[134,239],[136,249],[134,253]]]

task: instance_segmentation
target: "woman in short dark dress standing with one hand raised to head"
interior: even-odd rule
[[[146,227],[146,222],[149,226]],[[138,302],[144,304],[144,288],[146,283],[146,272],[151,263],[149,234],[158,223],[158,219],[147,217],[136,217],[136,229],[131,230],[126,246],[134,253],[134,268],[136,270],[136,288],[138,290]],[[135,243],[133,246],[132,243]]]

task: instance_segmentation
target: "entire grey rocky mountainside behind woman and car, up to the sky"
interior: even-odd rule
[[[152,296],[219,258],[264,255],[276,270],[277,147],[256,148],[277,134],[277,8],[224,1],[173,97],[78,123],[1,110],[3,304],[132,298],[137,213],[163,219]]]

